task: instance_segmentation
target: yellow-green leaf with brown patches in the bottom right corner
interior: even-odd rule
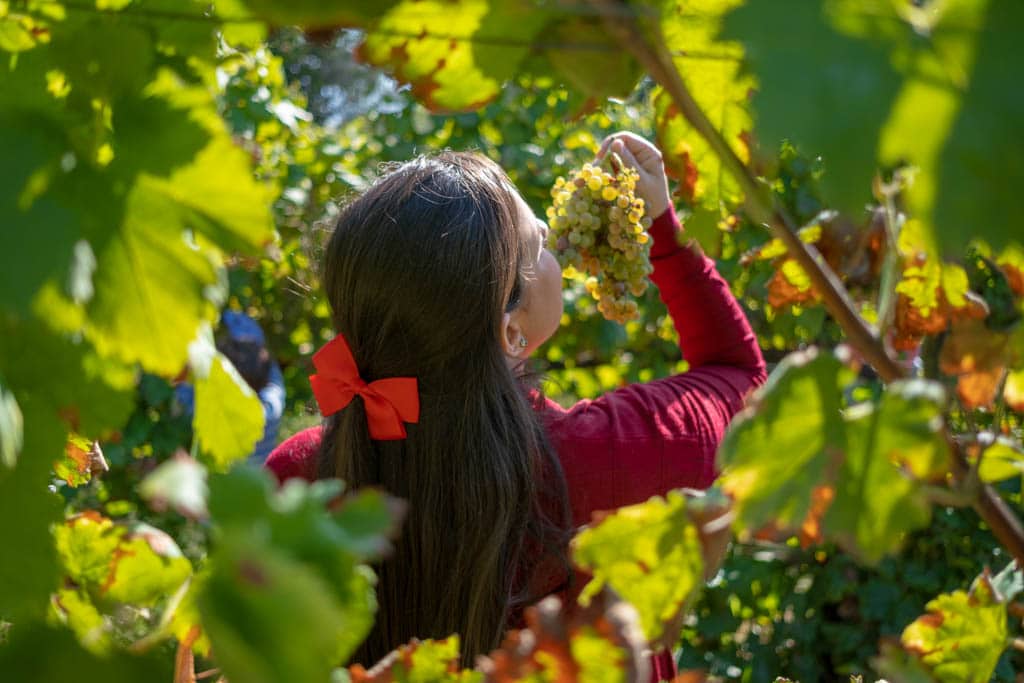
[[[943,593],[903,630],[900,643],[939,681],[988,681],[1007,645],[1007,607],[986,569],[970,592]]]

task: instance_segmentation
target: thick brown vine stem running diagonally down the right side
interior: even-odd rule
[[[813,245],[800,240],[797,236],[796,221],[772,199],[768,188],[736,156],[693,99],[665,44],[657,19],[641,25],[641,17],[624,15],[624,0],[588,0],[588,2],[601,16],[608,34],[629,50],[651,78],[665,88],[690,126],[711,145],[743,189],[748,215],[755,222],[767,225],[785,245],[786,251],[804,269],[811,285],[821,296],[829,314],[843,328],[849,344],[874,368],[883,381],[893,382],[906,378],[908,376],[906,369],[893,358],[882,338],[857,312],[846,288],[824,262],[821,254]],[[946,440],[952,454],[953,476],[961,481],[970,474],[971,467],[964,451],[951,438],[948,430]],[[978,487],[974,508],[992,529],[999,543],[1010,551],[1019,564],[1024,565],[1024,526],[1006,501],[991,486],[984,484]]]

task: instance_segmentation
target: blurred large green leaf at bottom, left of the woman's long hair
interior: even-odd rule
[[[393,528],[394,513],[375,493],[333,513],[340,488],[292,480],[279,492],[268,473],[249,468],[211,478],[210,513],[223,541],[197,603],[227,676],[326,679],[369,633],[376,579],[360,562],[387,545],[381,533]],[[311,640],[283,648],[294,633]]]

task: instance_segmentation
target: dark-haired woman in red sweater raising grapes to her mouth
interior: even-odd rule
[[[497,165],[415,159],[338,218],[324,264],[338,336],[311,378],[327,420],[267,467],[280,480],[339,477],[409,503],[378,570],[377,622],[354,656],[365,666],[413,637],[453,633],[470,664],[523,606],[570,597],[573,527],[596,510],[710,485],[726,425],[764,381],[714,262],[680,246],[658,151],[620,133],[608,152],[637,169],[656,217],[651,280],[690,371],[569,410],[522,380],[525,358],[558,328],[561,271],[547,225]]]

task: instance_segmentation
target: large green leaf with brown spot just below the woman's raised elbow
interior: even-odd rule
[[[845,375],[814,352],[779,364],[726,433],[721,483],[736,499],[740,532],[799,530],[805,543],[835,541],[873,564],[931,519],[920,480],[948,468],[944,394],[933,382],[895,382],[877,405],[843,415]]]

